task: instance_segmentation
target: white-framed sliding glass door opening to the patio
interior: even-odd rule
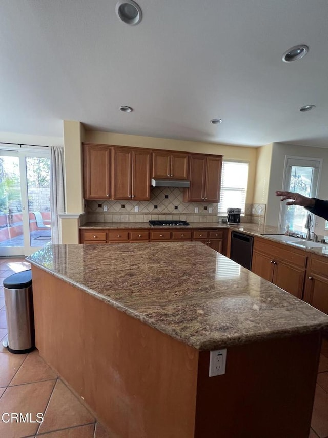
[[[48,149],[0,150],[0,256],[51,243],[49,183]]]

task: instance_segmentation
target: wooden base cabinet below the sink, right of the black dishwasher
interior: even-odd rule
[[[302,250],[254,238],[252,272],[302,298],[308,257]]]

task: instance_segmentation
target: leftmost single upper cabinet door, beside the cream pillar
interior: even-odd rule
[[[83,145],[85,199],[110,199],[110,155],[110,147]]]

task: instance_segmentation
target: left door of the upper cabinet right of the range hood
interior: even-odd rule
[[[190,187],[187,190],[187,201],[204,201],[206,157],[199,155],[190,156],[189,179]]]

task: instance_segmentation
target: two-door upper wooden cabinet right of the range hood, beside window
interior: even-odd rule
[[[191,155],[185,201],[219,202],[222,156]]]

